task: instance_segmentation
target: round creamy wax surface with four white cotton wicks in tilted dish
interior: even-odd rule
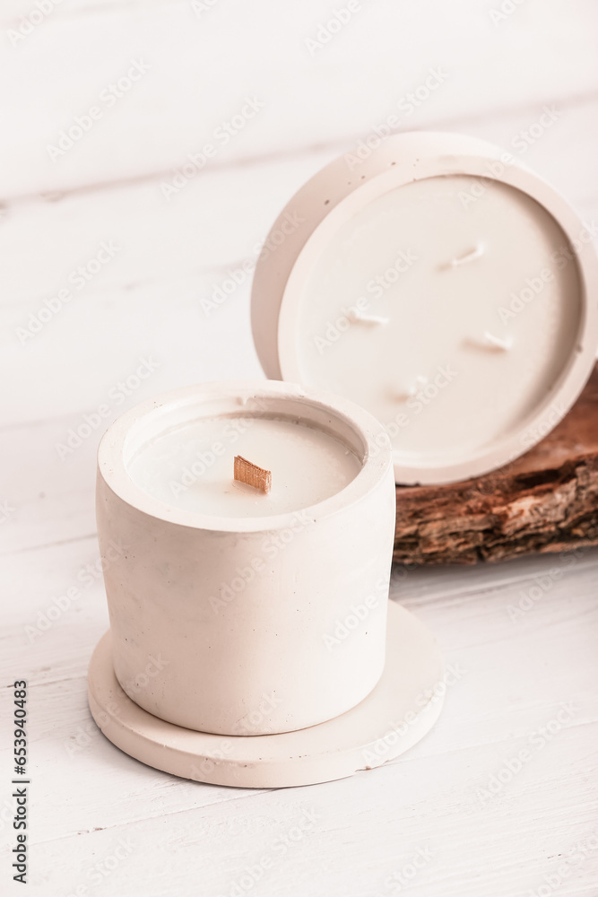
[[[572,250],[542,206],[490,179],[424,179],[345,222],[308,274],[301,381],[363,405],[404,458],[433,465],[524,423],[580,316]]]

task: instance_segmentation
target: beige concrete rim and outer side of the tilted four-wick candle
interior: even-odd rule
[[[508,161],[506,160],[506,157]],[[500,173],[488,168],[489,163],[501,165]],[[429,170],[429,164],[441,164],[442,170]],[[579,316],[572,353],[559,371],[542,402],[517,423],[513,431],[481,445],[468,454],[466,462],[451,457],[440,460],[414,459],[410,463],[400,450],[393,448],[394,475],[397,483],[452,483],[487,473],[511,463],[538,439],[527,439],[531,432],[548,432],[547,417],[554,417],[552,409],[559,404],[567,410],[581,393],[593,370],[598,346],[598,257],[591,243],[578,251],[576,242],[579,227],[585,226],[568,200],[524,161],[495,144],[470,135],[451,132],[414,131],[389,136],[371,152],[360,165],[360,173],[350,173],[345,157],[340,156],[316,172],[285,205],[273,223],[271,234],[279,227],[285,213],[298,210],[307,219],[300,237],[289,237],[276,248],[277,276],[268,282],[264,278],[273,264],[272,254],[260,257],[256,266],[251,297],[252,327],[256,351],[266,374],[301,379],[299,361],[291,351],[295,334],[293,314],[299,306],[305,284],[302,268],[306,268],[314,253],[322,251],[329,234],[342,222],[378,196],[413,181],[470,175],[495,181],[528,196],[550,214],[573,249],[579,283]],[[324,205],[323,196],[335,196]],[[270,235],[269,235],[270,236]],[[268,246],[268,238],[265,241]],[[318,246],[319,244],[319,246]],[[264,323],[265,322],[265,323]],[[271,322],[274,322],[273,324]],[[291,329],[293,335],[291,337]],[[562,415],[561,415],[562,416]]]

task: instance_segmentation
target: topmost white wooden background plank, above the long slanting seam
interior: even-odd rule
[[[526,0],[494,23],[497,5],[434,0],[424,11],[413,2],[360,3],[314,55],[306,40],[317,39],[335,9],[318,0],[257,11],[227,0],[205,15],[187,2],[151,4],[143,13],[130,4],[97,4],[78,16],[56,9],[7,46],[0,64],[3,81],[14,85],[0,195],[166,172],[206,142],[222,162],[347,141],[397,109],[402,126],[421,127],[595,91],[594,4]],[[114,105],[101,100],[141,58],[151,71]],[[410,107],[405,98],[433,68],[446,79]],[[224,144],[215,129],[247,96],[264,109]],[[52,161],[48,145],[98,104],[101,118]]]

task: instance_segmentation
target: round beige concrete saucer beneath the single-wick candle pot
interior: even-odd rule
[[[340,717],[296,732],[220,736],[152,716],[118,684],[109,631],[93,652],[88,679],[91,714],[122,751],[183,779],[241,788],[313,785],[380,766],[426,735],[446,690],[436,641],[393,602],[386,666],[374,691]]]

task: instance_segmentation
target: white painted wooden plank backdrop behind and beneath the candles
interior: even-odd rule
[[[30,682],[26,893],[598,894],[598,554],[395,570],[393,597],[463,671],[437,727],[376,771],[257,792],[152,771],[100,735],[85,675],[107,611],[97,570],[79,579],[98,556],[101,431],[162,390],[262,376],[248,280],[210,314],[202,300],[254,256],[293,191],[372,126],[398,113],[402,130],[459,130],[519,152],[517,135],[548,107],[552,124],[522,155],[598,221],[598,5],[361,0],[315,48],[306,39],[345,0],[39,3],[41,16],[36,0],[0,6],[1,663],[4,685]],[[134,63],[149,68],[108,106],[103,91]],[[407,114],[431,70],[442,85]],[[167,200],[162,185],[247,97],[263,108]],[[50,158],[94,105],[101,117]],[[110,241],[114,257],[77,289],[69,276]],[[67,287],[72,299],[23,336]],[[146,379],[141,360],[154,368]],[[60,457],[85,415],[96,425]],[[71,587],[79,597],[43,630]],[[2,692],[0,893],[12,894]],[[287,848],[306,810],[315,822]],[[263,857],[271,867],[255,881],[246,870]]]

